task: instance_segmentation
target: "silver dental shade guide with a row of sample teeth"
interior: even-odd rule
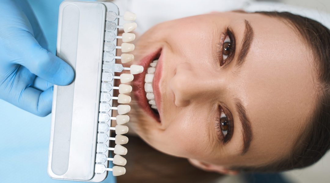
[[[111,2],[67,0],[60,5],[56,55],[73,67],[75,80],[68,86],[54,85],[48,157],[48,174],[53,179],[101,182],[108,171],[114,176],[126,172],[122,166],[127,161],[121,155],[127,154],[122,145],[128,143],[124,136],[128,127],[124,124],[130,119],[126,113],[131,110],[127,105],[131,97],[127,93],[132,87],[115,86],[115,79],[128,83],[144,68],[123,67],[115,62],[134,60],[128,52],[135,46],[128,42],[135,40],[130,32],[137,25],[118,25],[119,18],[134,21],[136,15],[119,15]],[[118,36],[118,29],[125,33]],[[122,39],[120,46],[117,39]],[[117,56],[116,49],[123,54]],[[115,75],[123,70],[130,70],[130,74]],[[119,91],[118,96],[114,96],[114,90]],[[120,105],[114,107],[113,100]],[[113,110],[117,110],[116,117],[112,116]],[[113,120],[116,127],[111,125]],[[116,136],[112,137],[111,132]],[[110,147],[110,141],[116,146]],[[108,168],[109,161],[117,166]]]

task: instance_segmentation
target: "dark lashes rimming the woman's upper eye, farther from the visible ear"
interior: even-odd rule
[[[230,39],[230,45],[231,45],[230,54],[227,56],[227,58],[225,60],[223,60],[223,44],[225,43],[224,41],[227,38],[227,36]],[[223,36],[221,37],[220,42],[217,43],[216,52],[218,55],[218,60],[220,62],[220,66],[222,66],[224,64],[225,64],[224,66],[227,66],[230,63],[230,61],[233,60],[233,56],[235,55],[235,36],[229,27],[227,27],[226,32],[223,33]],[[229,60],[229,61],[226,62],[227,60]]]

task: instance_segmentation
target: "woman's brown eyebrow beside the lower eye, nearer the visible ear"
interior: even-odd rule
[[[242,124],[242,134],[243,134],[243,149],[242,149],[242,155],[244,155],[248,148],[250,147],[251,141],[252,141],[252,129],[251,129],[251,122],[248,119],[245,107],[242,105],[242,101],[238,98],[235,98],[235,108],[236,112],[238,114],[238,117],[240,118],[240,122]]]

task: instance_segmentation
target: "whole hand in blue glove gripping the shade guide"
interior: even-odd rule
[[[0,0],[0,98],[47,116],[53,84],[68,85],[73,78],[71,66],[47,51],[29,4],[25,0]]]

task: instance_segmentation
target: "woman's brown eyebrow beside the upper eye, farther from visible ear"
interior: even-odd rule
[[[248,55],[248,51],[250,49],[250,46],[253,42],[253,29],[251,27],[251,24],[248,20],[245,20],[245,32],[242,40],[242,47],[238,54],[238,59],[236,62],[236,67],[240,68],[245,61],[245,58]]]

